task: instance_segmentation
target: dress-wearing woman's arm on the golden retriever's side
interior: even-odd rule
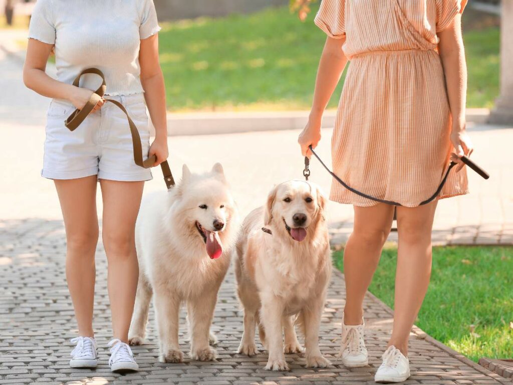
[[[317,79],[315,79],[315,90],[313,91],[313,102],[308,117],[308,123],[300,133],[298,143],[301,145],[303,156],[310,156],[309,145],[313,148],[321,140],[322,115],[333,91],[340,81],[340,76],[347,64],[347,57],[342,51],[342,45],[346,38],[327,37],[326,44],[322,51],[319,68],[317,70]]]

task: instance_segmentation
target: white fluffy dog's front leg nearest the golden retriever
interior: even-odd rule
[[[218,287],[219,288],[219,287]],[[215,349],[210,347],[210,325],[214,315],[218,291],[212,288],[198,298],[187,301],[189,328],[191,336],[191,358],[199,361],[212,361],[217,357]]]

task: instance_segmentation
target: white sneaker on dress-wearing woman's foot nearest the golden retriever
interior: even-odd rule
[[[345,325],[342,316],[342,343],[340,357],[346,368],[361,368],[369,363],[363,339],[365,322],[361,325]]]

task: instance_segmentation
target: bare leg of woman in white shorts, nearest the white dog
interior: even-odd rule
[[[128,343],[139,263],[135,253],[135,220],[144,182],[102,179],[103,244],[109,262],[108,290],[114,338]]]

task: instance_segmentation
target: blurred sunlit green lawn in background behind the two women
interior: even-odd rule
[[[172,110],[308,109],[325,34],[287,7],[221,19],[162,23],[161,63]],[[471,26],[475,13],[465,13]],[[479,19],[478,15],[478,19]],[[482,18],[482,17],[481,17]],[[481,23],[483,24],[483,23]],[[465,29],[468,107],[491,107],[498,94],[499,28]],[[329,108],[336,108],[342,82]]]

